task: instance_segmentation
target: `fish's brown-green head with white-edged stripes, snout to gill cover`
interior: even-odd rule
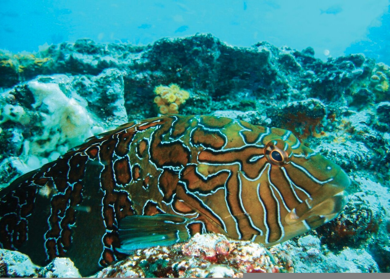
[[[222,132],[225,146],[201,151],[197,176],[186,180],[222,233],[271,246],[332,220],[346,205],[346,173],[290,131],[239,121]]]

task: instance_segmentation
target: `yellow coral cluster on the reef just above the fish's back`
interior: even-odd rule
[[[159,95],[154,98],[154,103],[161,114],[179,113],[179,106],[190,97],[190,93],[182,90],[177,84],[158,85],[154,88],[154,93]]]

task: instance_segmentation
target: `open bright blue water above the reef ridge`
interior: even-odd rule
[[[321,59],[363,52],[390,64],[388,0],[1,0],[0,49],[90,38],[149,44],[211,33],[235,46],[268,41]]]

